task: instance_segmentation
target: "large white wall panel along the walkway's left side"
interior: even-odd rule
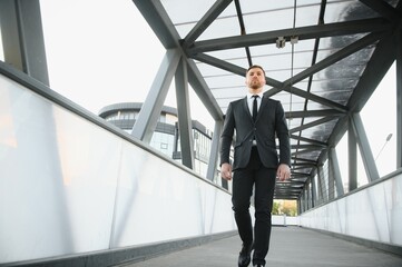
[[[0,264],[235,229],[227,191],[0,76]]]

